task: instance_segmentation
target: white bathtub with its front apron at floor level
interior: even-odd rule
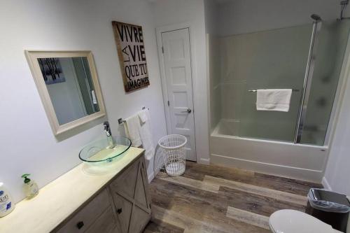
[[[222,119],[210,136],[210,162],[321,183],[328,146],[311,146],[239,136],[239,120]]]

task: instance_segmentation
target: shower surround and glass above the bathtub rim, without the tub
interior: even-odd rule
[[[212,126],[224,134],[323,146],[349,21],[216,38]],[[256,111],[257,89],[293,89],[288,113]]]

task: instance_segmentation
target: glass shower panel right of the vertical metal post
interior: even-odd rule
[[[349,29],[350,20],[322,22],[300,143],[323,146],[325,142]]]

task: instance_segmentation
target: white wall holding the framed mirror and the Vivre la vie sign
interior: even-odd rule
[[[111,20],[143,26],[150,87],[125,94]],[[80,163],[78,152],[86,143],[104,138],[106,120],[55,138],[25,59],[26,49],[92,50],[113,134],[122,132],[118,118],[142,106],[151,109],[154,141],[166,134],[155,24],[148,1],[1,1],[0,22],[0,181],[15,201],[24,197],[22,174],[32,174],[43,187],[69,171]]]

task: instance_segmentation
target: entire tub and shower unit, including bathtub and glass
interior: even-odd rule
[[[295,27],[208,35],[211,162],[265,172],[271,165],[274,174],[319,181],[350,20],[312,18]],[[290,110],[257,111],[254,91],[275,88],[293,89]]]

